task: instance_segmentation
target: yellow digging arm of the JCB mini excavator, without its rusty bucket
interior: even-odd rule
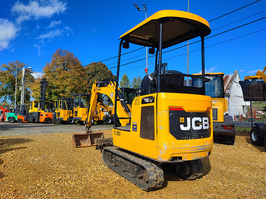
[[[106,82],[105,82],[106,83]],[[90,98],[90,109],[88,111],[88,117],[87,117],[87,123],[85,124],[86,133],[91,132],[91,126],[92,126],[92,119],[93,114],[97,106],[97,98],[99,94],[105,94],[109,96],[113,102],[115,103],[115,89],[116,89],[116,83],[110,82],[107,86],[99,87],[100,82],[95,81],[93,83],[92,89],[91,89],[91,98]],[[118,91],[121,92],[121,90],[118,88]],[[119,99],[121,103],[117,103],[117,115],[118,117],[122,118],[129,118],[131,117],[130,109],[128,106],[124,106],[122,101],[123,99]],[[125,103],[124,103],[125,104]],[[122,126],[126,126],[127,123],[129,123],[129,119],[121,119],[119,120]],[[116,122],[116,121],[114,121]]]

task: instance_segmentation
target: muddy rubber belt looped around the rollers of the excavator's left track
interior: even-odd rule
[[[111,152],[112,154],[115,154],[123,159],[128,160],[129,162],[133,162],[136,165],[140,165],[141,167],[144,167],[145,170],[148,173],[149,180],[148,183],[143,182],[142,180],[133,177],[129,172],[122,171],[119,166],[114,166],[106,159],[106,152]],[[161,187],[163,184],[163,170],[161,169],[160,165],[157,163],[153,163],[150,161],[147,161],[145,159],[141,159],[139,157],[134,156],[133,154],[130,154],[129,152],[124,152],[119,150],[117,147],[105,147],[103,149],[103,162],[112,170],[117,172],[119,175],[123,176],[130,182],[133,182],[135,185],[140,187],[141,189],[145,191],[154,190],[158,187]]]

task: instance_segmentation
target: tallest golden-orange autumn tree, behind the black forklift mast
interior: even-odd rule
[[[32,85],[32,96],[40,98],[40,80],[45,77],[49,81],[46,88],[46,101],[60,97],[72,97],[87,90],[86,70],[73,52],[57,49],[50,63],[43,68],[44,75]]]

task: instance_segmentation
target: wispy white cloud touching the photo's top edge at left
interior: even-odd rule
[[[67,4],[60,0],[49,1],[29,1],[27,5],[17,1],[11,11],[18,14],[17,23],[21,23],[29,19],[40,19],[43,17],[51,17],[53,14],[59,14],[67,9]]]

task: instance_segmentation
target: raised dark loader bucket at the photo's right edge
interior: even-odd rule
[[[266,83],[264,80],[239,81],[244,101],[266,101]]]

